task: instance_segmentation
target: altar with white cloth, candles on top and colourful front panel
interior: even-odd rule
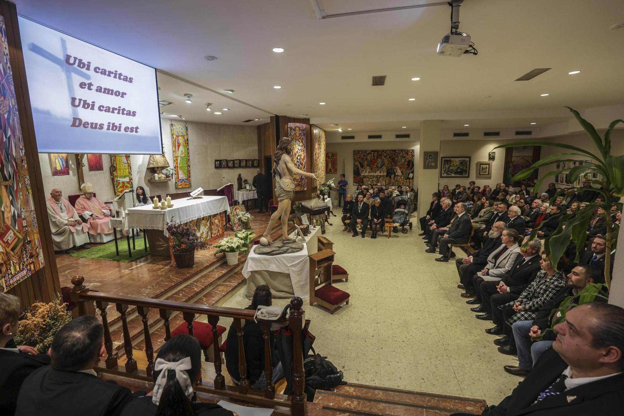
[[[230,212],[225,196],[202,196],[197,199],[175,199],[173,207],[154,209],[152,205],[127,210],[129,229],[144,229],[150,252],[170,256],[166,223],[171,220],[195,227],[200,239],[210,242],[225,234],[225,213]]]

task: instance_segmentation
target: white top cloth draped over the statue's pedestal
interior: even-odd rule
[[[295,296],[310,297],[310,260],[308,260],[307,247],[296,253],[280,255],[255,254],[256,247],[258,245],[253,245],[249,250],[245,267],[243,267],[245,279],[250,277],[251,272],[258,270],[287,273],[290,274]]]

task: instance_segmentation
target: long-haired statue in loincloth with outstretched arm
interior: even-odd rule
[[[295,197],[295,182],[293,181],[293,174],[301,176],[309,176],[316,179],[316,175],[313,173],[301,171],[297,169],[293,161],[290,159],[290,144],[291,141],[288,137],[282,137],[280,144],[277,146],[277,151],[273,155],[273,179],[275,179],[275,195],[278,200],[278,208],[266,227],[265,234],[260,238],[261,245],[270,244],[269,235],[273,229],[273,225],[277,222],[278,218],[281,218],[281,230],[282,241],[292,241],[293,239],[288,235],[288,215],[290,215],[290,206]]]

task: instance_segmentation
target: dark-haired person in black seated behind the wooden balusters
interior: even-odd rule
[[[251,305],[245,309],[257,310],[258,306],[271,306],[271,289],[268,285],[260,285],[256,287],[251,299]],[[240,384],[240,372],[238,368],[238,329],[235,325],[230,325],[228,330],[227,344],[225,347],[225,365],[228,369],[232,381]],[[275,340],[271,333],[269,345],[273,349]],[[265,375],[265,340],[264,332],[260,327],[260,323],[253,319],[246,319],[243,325],[243,349],[245,350],[245,363],[247,366],[247,380],[253,390],[264,390],[266,387]],[[275,350],[271,351],[271,362],[273,362],[273,384],[275,385],[284,377],[284,371],[280,360],[276,357]]]

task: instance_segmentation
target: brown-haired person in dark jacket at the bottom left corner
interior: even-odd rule
[[[17,395],[26,377],[50,364],[49,355],[13,342],[20,309],[17,296],[0,293],[0,415],[15,413]]]

